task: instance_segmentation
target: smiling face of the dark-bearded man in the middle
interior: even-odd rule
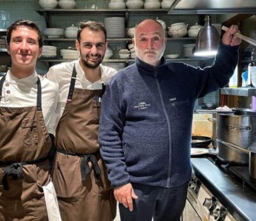
[[[105,34],[103,31],[92,31],[86,27],[80,36],[80,41],[76,41],[76,49],[80,52],[82,64],[87,68],[97,68],[102,63],[107,49]]]

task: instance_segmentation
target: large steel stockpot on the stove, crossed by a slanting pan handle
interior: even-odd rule
[[[256,143],[256,112],[255,114],[239,115],[241,112],[234,111],[234,114],[217,114],[217,157],[230,164],[248,164],[246,153],[229,148],[220,142],[225,141],[244,149],[248,149],[253,146],[253,143]]]

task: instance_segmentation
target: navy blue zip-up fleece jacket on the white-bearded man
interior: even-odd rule
[[[113,187],[129,182],[175,187],[191,176],[195,100],[228,84],[238,47],[220,43],[212,66],[154,67],[136,59],[120,70],[102,98],[100,153]]]

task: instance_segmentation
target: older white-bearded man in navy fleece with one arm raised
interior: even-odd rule
[[[225,86],[241,42],[231,26],[214,64],[167,63],[163,27],[136,26],[135,63],[118,72],[102,99],[99,142],[121,220],[177,221],[191,176],[191,123],[196,98]]]

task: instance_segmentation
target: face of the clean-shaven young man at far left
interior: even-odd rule
[[[12,58],[12,68],[35,70],[36,59],[42,55],[38,33],[27,26],[18,26],[12,31],[7,51]]]

